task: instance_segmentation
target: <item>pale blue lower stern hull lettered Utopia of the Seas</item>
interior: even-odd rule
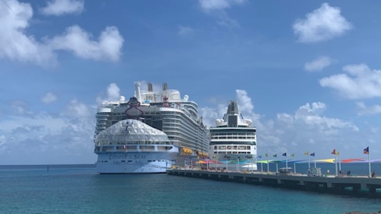
[[[111,152],[98,154],[99,174],[164,173],[174,164],[175,152]]]

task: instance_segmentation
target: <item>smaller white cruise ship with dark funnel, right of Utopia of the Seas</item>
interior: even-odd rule
[[[222,119],[210,128],[209,157],[220,168],[257,170],[256,128],[239,113],[237,101],[230,101]]]

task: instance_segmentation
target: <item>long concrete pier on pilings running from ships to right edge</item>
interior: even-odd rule
[[[343,195],[381,198],[381,177],[368,176],[307,176],[306,174],[267,174],[266,172],[206,171],[168,169],[168,175],[239,182],[254,185],[291,188]]]

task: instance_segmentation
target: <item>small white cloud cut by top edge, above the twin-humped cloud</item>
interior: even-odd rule
[[[61,16],[69,13],[82,13],[85,2],[83,0],[51,0],[40,12],[45,15]]]

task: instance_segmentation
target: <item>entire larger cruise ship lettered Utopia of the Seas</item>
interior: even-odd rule
[[[121,96],[98,108],[94,137],[98,173],[165,172],[208,157],[209,132],[189,96],[181,98],[166,83],[160,91],[151,83],[147,91],[138,82],[134,85],[128,101]]]

